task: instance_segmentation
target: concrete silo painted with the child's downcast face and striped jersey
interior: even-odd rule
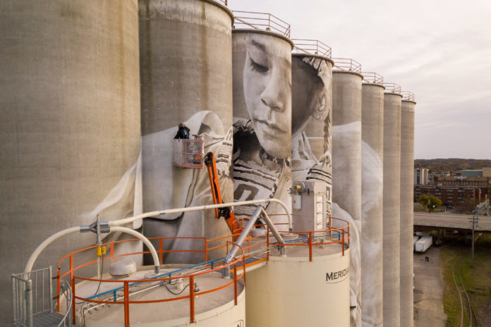
[[[291,203],[291,40],[262,30],[234,30],[234,199]],[[253,206],[236,207],[251,216]],[[284,214],[269,204],[269,214]],[[286,217],[274,217],[286,223]],[[285,226],[286,228],[286,226]]]

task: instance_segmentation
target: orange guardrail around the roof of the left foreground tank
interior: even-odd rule
[[[206,291],[200,291],[200,295],[205,295],[207,293],[210,293],[210,292],[215,292],[215,291],[218,291],[218,290],[222,290],[223,288],[226,288],[232,284],[234,284],[234,304],[236,305],[237,304],[237,283],[238,283],[238,280],[240,280],[241,278],[244,279],[244,283],[245,283],[245,270],[243,270],[243,272],[238,275],[237,274],[237,264],[239,261],[242,261],[241,265],[242,266],[245,266],[245,256],[244,256],[244,249],[242,247],[239,246],[239,248],[241,249],[241,255],[239,256],[236,256],[236,258],[231,261],[231,263],[229,264],[219,264],[219,261],[222,261],[224,258],[219,258],[219,259],[214,259],[214,260],[211,260],[211,261],[207,261],[207,256],[208,256],[208,252],[214,250],[214,249],[219,249],[219,248],[224,248],[226,249],[226,251],[228,252],[228,249],[229,249],[229,245],[231,244],[235,244],[235,243],[232,243],[232,242],[229,242],[229,241],[226,241],[226,242],[222,242],[223,244],[221,245],[217,245],[217,246],[213,246],[213,247],[210,247],[209,244],[211,242],[217,242],[217,241],[220,241],[220,240],[225,240],[226,238],[229,238],[229,237],[232,237],[232,235],[229,235],[229,236],[226,236],[226,237],[219,237],[217,239],[213,239],[213,240],[207,240],[205,237],[151,237],[149,238],[149,240],[158,240],[159,241],[159,249],[157,250],[157,253],[159,254],[159,259],[162,260],[162,257],[163,257],[163,254],[164,253],[167,253],[167,252],[199,252],[199,253],[202,253],[205,257],[205,262],[203,262],[202,264],[198,264],[198,265],[194,265],[194,266],[203,266],[203,268],[207,268],[205,271],[199,271],[197,273],[190,273],[188,275],[181,275],[181,276],[170,276],[169,273],[162,273],[162,277],[159,277],[159,278],[152,278],[152,279],[139,279],[139,280],[108,280],[108,279],[102,279],[102,278],[85,278],[85,277],[81,277],[81,276],[75,276],[75,271],[77,271],[78,269],[81,269],[83,268],[84,266],[87,266],[87,265],[90,265],[90,264],[95,264],[97,262],[97,259],[96,260],[92,260],[92,261],[89,261],[89,262],[85,262],[84,264],[80,264],[78,266],[75,266],[74,265],[74,255],[75,254],[80,254],[82,252],[86,252],[86,251],[89,251],[89,250],[93,250],[95,249],[97,246],[92,246],[92,247],[87,247],[85,249],[80,249],[78,251],[75,251],[71,254],[67,254],[65,257],[61,258],[58,262],[58,273],[57,273],[57,301],[58,301],[58,306],[57,306],[57,309],[59,310],[60,309],[60,305],[59,305],[59,301],[60,301],[60,283],[61,283],[61,279],[66,277],[66,276],[70,276],[70,280],[71,280],[71,289],[72,289],[72,316],[73,316],[73,323],[75,324],[75,319],[76,319],[76,316],[75,316],[75,300],[83,300],[85,302],[89,302],[89,303],[97,303],[97,304],[123,304],[124,305],[124,323],[125,323],[125,327],[126,326],[129,326],[129,315],[130,315],[130,311],[129,311],[129,304],[142,304],[142,303],[157,303],[157,302],[169,302],[169,301],[176,301],[176,300],[183,300],[183,299],[189,299],[189,306],[190,306],[190,323],[193,323],[195,322],[195,304],[194,304],[194,288],[191,287],[191,285],[194,285],[194,278],[195,276],[198,276],[198,275],[202,275],[202,274],[205,274],[205,273],[212,273],[214,271],[218,271],[218,270],[221,270],[221,269],[224,269],[224,268],[227,268],[227,267],[232,267],[233,266],[233,270],[234,270],[234,278],[233,280],[231,280],[229,283],[226,283],[222,286],[220,286],[219,288],[214,288],[212,290],[206,290]],[[201,249],[201,250],[164,250],[162,248],[162,244],[163,244],[163,240],[166,240],[166,239],[190,239],[190,240],[203,240],[204,241],[204,249]],[[116,245],[117,243],[121,243],[121,242],[140,242],[140,240],[138,239],[133,239],[133,240],[121,240],[121,241],[115,241],[115,242],[109,242],[109,243],[104,243],[103,247],[108,247],[110,248],[109,250],[109,257],[102,257],[101,259],[102,260],[112,260],[112,259],[115,259],[117,257],[126,257],[126,256],[131,256],[131,255],[137,255],[137,254],[149,254],[150,251],[143,251],[143,252],[134,252],[134,253],[129,253],[129,254],[119,254],[119,255],[114,255],[114,245]],[[61,266],[63,264],[63,261],[65,261],[66,259],[68,259],[68,265],[69,265],[69,268],[68,268],[68,271],[66,271],[65,273],[61,273]],[[162,261],[161,261],[162,262]],[[187,267],[189,268],[189,267]],[[166,275],[169,275],[169,277],[164,277]],[[161,299],[161,300],[147,300],[147,301],[131,301],[129,299],[129,287],[132,286],[133,284],[135,283],[149,283],[149,282],[152,282],[152,283],[155,283],[155,282],[169,282],[170,283],[170,280],[174,280],[174,279],[178,279],[178,278],[188,278],[189,280],[189,285],[190,285],[190,288],[189,288],[189,295],[184,295],[182,297],[174,297],[174,298],[171,298],[171,299]],[[75,281],[76,280],[88,280],[88,281],[93,281],[93,282],[98,282],[98,283],[123,283],[123,287],[121,288],[116,288],[115,290],[111,290],[111,292],[115,292],[115,295],[114,295],[114,300],[111,300],[111,301],[101,301],[101,300],[94,300],[93,297],[95,296],[92,296],[90,298],[84,298],[84,297],[79,297],[77,296],[76,294],[76,290],[75,290]],[[228,280],[226,280],[228,281]],[[123,301],[116,301],[116,292],[117,290],[123,290]],[[100,295],[100,294],[99,294]]]

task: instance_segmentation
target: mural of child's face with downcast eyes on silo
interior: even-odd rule
[[[257,139],[277,158],[291,152],[291,51],[283,48],[268,35],[248,37],[243,72],[245,104]]]

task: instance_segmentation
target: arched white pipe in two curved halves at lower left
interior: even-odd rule
[[[25,265],[24,272],[28,273],[28,272],[32,271],[32,266],[34,266],[34,263],[35,263],[37,257],[39,257],[42,250],[44,250],[51,242],[54,242],[54,240],[57,240],[64,235],[68,235],[71,233],[79,233],[79,232],[80,232],[80,227],[72,227],[72,228],[66,228],[64,230],[61,230],[58,233],[55,233],[55,234],[51,235],[50,237],[48,237],[46,240],[44,240],[44,242],[42,242],[34,250],[34,252],[32,252],[32,254],[29,257],[28,263]],[[157,251],[155,251],[154,246],[152,245],[150,240],[147,239],[147,237],[138,233],[136,230],[132,230],[131,228],[119,227],[119,226],[111,227],[111,232],[128,233],[128,234],[133,235],[135,237],[138,237],[140,240],[142,240],[145,243],[145,245],[147,245],[147,247],[150,249],[150,252],[152,253],[152,258],[154,259],[155,272],[158,272],[159,265],[160,265],[159,264],[159,256],[157,255]]]

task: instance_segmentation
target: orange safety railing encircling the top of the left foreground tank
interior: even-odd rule
[[[178,269],[176,271],[172,271],[170,273],[162,273],[158,276],[155,276],[153,278],[148,278],[148,279],[141,279],[141,280],[109,280],[109,279],[103,279],[103,278],[85,278],[82,276],[75,276],[75,272],[78,271],[78,269],[81,269],[85,266],[88,266],[90,264],[95,264],[97,263],[96,260],[92,260],[89,262],[85,262],[83,264],[79,264],[78,266],[75,265],[75,255],[80,255],[83,252],[86,251],[94,251],[97,246],[92,246],[92,247],[87,247],[85,249],[80,249],[76,252],[73,252],[71,254],[66,255],[65,257],[61,258],[59,263],[58,263],[58,280],[61,280],[61,278],[64,277],[69,277],[71,280],[71,290],[72,290],[72,303],[71,303],[71,315],[72,315],[72,321],[75,324],[76,320],[76,310],[75,310],[75,300],[82,300],[83,302],[86,302],[87,304],[121,304],[123,305],[124,308],[124,323],[125,326],[129,326],[129,316],[130,316],[130,310],[129,310],[129,305],[130,304],[142,304],[142,303],[159,303],[159,302],[170,302],[170,301],[176,301],[176,300],[185,300],[189,299],[189,307],[190,307],[190,323],[195,322],[195,303],[194,303],[194,298],[195,298],[195,290],[191,285],[194,285],[195,283],[195,277],[200,276],[205,273],[212,273],[214,271],[222,270],[224,268],[230,267],[232,271],[234,271],[234,278],[232,278],[231,281],[229,279],[224,279],[224,285],[221,285],[219,288],[214,288],[210,290],[200,290],[199,295],[205,295],[207,293],[215,292],[218,290],[222,290],[228,286],[234,285],[234,304],[237,304],[237,297],[238,297],[238,292],[237,292],[237,283],[238,280],[241,280],[243,278],[244,283],[245,283],[245,271],[242,271],[242,273],[239,275],[237,273],[237,266],[245,266],[245,261],[244,261],[244,249],[242,247],[239,247],[241,249],[241,254],[238,255],[231,263],[229,264],[221,264],[221,262],[225,259],[225,257],[221,257],[218,259],[212,259],[212,260],[207,260],[208,253],[216,250],[216,249],[221,249],[223,248],[224,251],[227,250],[231,244],[234,244],[230,241],[224,241],[227,237],[231,238],[233,235],[229,235],[226,237],[219,237],[217,239],[213,240],[207,240],[205,237],[152,237],[149,238],[149,240],[157,240],[159,242],[159,249],[157,253],[159,254],[159,257],[162,259],[162,256],[165,253],[169,252],[198,252],[202,253],[203,257],[205,259],[205,262],[202,262],[200,264],[195,264],[193,266],[188,266],[185,269]],[[203,240],[204,246],[203,249],[186,249],[186,250],[165,250],[163,249],[163,242],[167,239],[190,239],[190,240]],[[107,257],[101,257],[100,260],[106,261],[106,260],[114,260],[118,257],[126,257],[126,256],[131,256],[131,255],[139,255],[139,254],[148,254],[150,251],[143,251],[143,252],[134,252],[134,253],[128,253],[128,254],[119,254],[116,255],[114,254],[114,249],[115,245],[118,243],[122,242],[139,242],[140,240],[135,239],[135,240],[121,240],[121,241],[115,241],[115,242],[109,242],[105,243],[102,246],[103,247],[109,247],[109,255]],[[213,242],[219,242],[219,245],[212,245]],[[63,262],[68,260],[68,270],[65,272],[61,271],[61,266],[63,266]],[[239,262],[242,261],[240,264]],[[179,273],[186,273],[186,271],[193,271],[192,269],[198,270],[197,272],[194,273],[188,273],[185,275],[178,274]],[[183,295],[181,297],[172,297],[169,299],[160,299],[160,300],[143,300],[143,301],[134,301],[130,300],[130,292],[129,289],[131,287],[135,287],[138,285],[140,288],[146,288],[148,283],[152,283],[152,285],[155,285],[155,283],[159,283],[159,285],[163,285],[164,283],[172,283],[172,281],[176,281],[177,279],[188,279],[190,287],[189,287],[189,294],[188,295]],[[120,283],[123,284],[122,286],[116,285],[114,288],[112,288],[109,291],[104,291],[97,293],[95,295],[92,295],[90,297],[80,297],[77,296],[76,294],[76,283],[80,280],[87,280],[90,282],[97,282],[97,283]],[[58,293],[60,293],[61,290],[61,285],[58,285],[57,287]],[[101,300],[100,297],[104,297],[104,300]],[[59,301],[60,297],[58,297],[58,309],[59,309]]]

